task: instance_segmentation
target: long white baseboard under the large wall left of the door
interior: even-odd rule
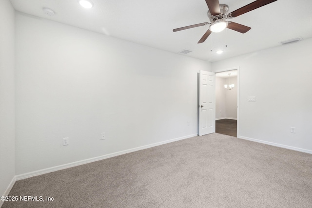
[[[86,164],[86,163],[92,163],[92,162],[95,162],[95,161],[98,161],[98,160],[103,160],[103,159],[107,159],[107,158],[110,158],[110,157],[115,157],[115,156],[118,156],[118,155],[121,155],[121,154],[130,153],[130,152],[133,152],[133,151],[139,151],[139,150],[144,150],[144,149],[148,149],[148,148],[151,148],[151,147],[156,147],[156,146],[159,146],[159,145],[163,145],[163,144],[179,141],[179,140],[182,140],[182,139],[191,138],[191,137],[194,137],[194,136],[197,136],[197,134],[191,134],[191,135],[187,135],[187,136],[182,136],[182,137],[175,138],[175,139],[170,139],[170,140],[166,140],[166,141],[162,141],[162,142],[157,142],[157,143],[154,143],[154,144],[145,145],[145,146],[141,146],[141,147],[137,147],[137,148],[133,148],[133,149],[129,149],[129,150],[124,150],[124,151],[118,151],[118,152],[114,152],[114,153],[110,153],[110,154],[105,154],[105,155],[102,155],[102,156],[93,157],[93,158],[89,158],[89,159],[85,159],[85,160],[80,160],[80,161],[76,161],[76,162],[73,162],[73,163],[67,163],[67,164],[64,164],[64,165],[59,165],[59,166],[55,166],[55,167],[51,167],[51,168],[46,168],[46,169],[42,169],[42,170],[36,170],[36,171],[33,171],[33,172],[27,172],[27,173],[23,173],[23,174],[20,174],[20,175],[16,175],[15,178],[16,178],[16,180],[30,178],[30,177],[33,177],[33,176],[42,175],[42,174],[49,173],[49,172],[54,172],[54,171],[57,171],[57,170],[63,170],[63,169],[67,169],[67,168],[83,165],[83,164]]]

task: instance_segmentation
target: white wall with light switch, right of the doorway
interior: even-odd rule
[[[238,137],[312,153],[311,48],[309,38],[213,63],[214,72],[240,67]]]

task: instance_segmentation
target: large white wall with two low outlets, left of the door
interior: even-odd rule
[[[197,134],[209,62],[21,13],[16,30],[17,175]]]

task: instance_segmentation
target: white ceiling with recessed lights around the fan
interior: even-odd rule
[[[253,1],[219,0],[229,6],[229,12]],[[231,19],[251,27],[249,32],[241,34],[226,29],[213,33],[200,44],[197,42],[208,25],[179,32],[172,30],[209,21],[205,0],[92,0],[91,9],[81,7],[78,0],[11,2],[23,13],[173,53],[188,49],[192,52],[181,55],[210,62],[278,46],[280,41],[291,38],[312,37],[312,0],[277,0]],[[56,15],[44,14],[43,7],[54,10]],[[224,53],[216,54],[218,49]]]

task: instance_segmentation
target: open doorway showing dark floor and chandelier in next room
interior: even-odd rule
[[[238,135],[238,69],[215,73],[215,132]]]

